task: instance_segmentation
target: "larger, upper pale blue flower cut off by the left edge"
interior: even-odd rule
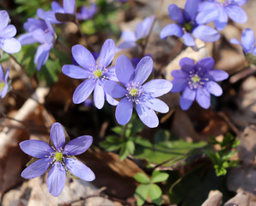
[[[9,15],[7,11],[0,11],[0,49],[7,53],[21,51],[20,41],[13,38],[16,32],[15,26],[9,24]]]

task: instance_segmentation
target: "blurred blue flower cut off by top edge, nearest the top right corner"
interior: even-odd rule
[[[228,17],[238,23],[247,21],[247,13],[241,5],[247,0],[208,0],[200,3],[196,18],[198,24],[214,21],[215,27],[222,30],[228,23]]]

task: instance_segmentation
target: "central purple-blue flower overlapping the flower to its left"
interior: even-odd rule
[[[172,83],[162,79],[144,83],[153,70],[153,61],[149,57],[142,58],[134,69],[129,58],[121,55],[115,66],[121,85],[109,81],[106,82],[105,89],[113,98],[121,98],[115,112],[118,123],[127,124],[135,106],[143,124],[156,127],[159,120],[155,112],[166,113],[169,108],[162,100],[155,97],[167,94],[172,88]]]

